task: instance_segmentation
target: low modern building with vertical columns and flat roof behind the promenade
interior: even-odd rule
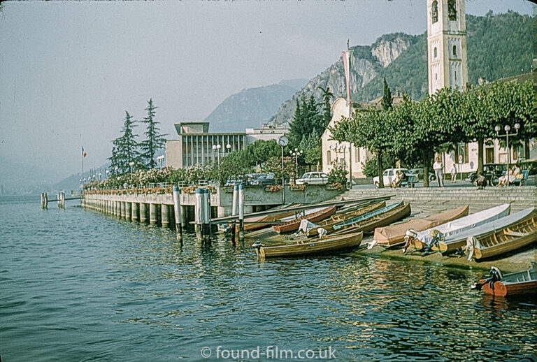
[[[178,139],[166,140],[166,166],[187,168],[215,162],[234,151],[244,150],[256,140],[277,140],[288,129],[265,126],[236,133],[209,133],[209,122],[176,123]]]

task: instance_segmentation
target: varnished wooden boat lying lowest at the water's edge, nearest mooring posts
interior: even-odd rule
[[[340,236],[325,236],[322,239],[299,241],[295,244],[266,246],[262,242],[255,242],[255,254],[259,259],[275,258],[278,256],[304,256],[311,254],[337,254],[349,252],[361,243],[362,233],[349,233]]]

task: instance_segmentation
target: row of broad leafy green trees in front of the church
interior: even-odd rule
[[[343,118],[331,129],[333,138],[349,141],[375,152],[380,187],[382,158],[399,159],[403,164],[421,164],[424,186],[429,186],[429,167],[436,152],[450,150],[457,143],[478,143],[478,170],[482,171],[483,143],[496,138],[494,126],[520,123],[513,143],[528,143],[537,136],[533,82],[492,82],[486,86],[468,86],[465,92],[444,88],[420,102],[403,94],[399,106],[392,106],[385,83],[382,109],[356,113]]]

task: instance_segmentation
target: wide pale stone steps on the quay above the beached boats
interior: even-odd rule
[[[475,187],[416,187],[401,189],[364,189],[355,188],[345,191],[338,199],[395,195],[386,204],[401,200],[410,203],[417,213],[436,213],[470,205],[470,213],[478,212],[501,203],[510,203],[511,212],[517,212],[530,206],[537,206],[537,187],[487,187],[478,190]],[[421,212],[420,212],[421,211]]]

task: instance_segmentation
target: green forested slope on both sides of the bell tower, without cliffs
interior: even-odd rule
[[[531,71],[533,23],[531,17],[506,13],[485,17],[466,15],[468,36],[468,78],[477,84]],[[371,82],[353,94],[355,101],[371,101],[382,95],[382,78],[392,90],[401,90],[412,99],[427,95],[427,34],[417,37],[396,60],[382,69]]]

